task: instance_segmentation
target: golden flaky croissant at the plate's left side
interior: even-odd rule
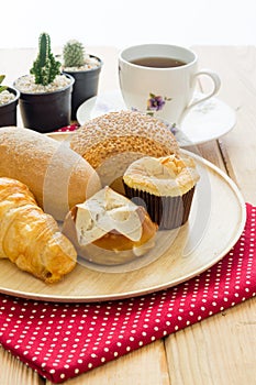
[[[77,260],[71,242],[37,206],[27,186],[5,177],[0,178],[0,258],[45,283],[58,282]]]

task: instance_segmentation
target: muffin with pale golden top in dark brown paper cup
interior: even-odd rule
[[[198,180],[194,161],[178,155],[142,157],[123,176],[126,197],[145,205],[151,219],[162,230],[187,222]]]

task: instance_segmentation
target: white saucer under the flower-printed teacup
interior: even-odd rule
[[[199,98],[200,92],[194,96]],[[85,101],[77,111],[79,124],[111,111],[126,110],[121,91],[109,91]],[[233,129],[235,111],[213,97],[193,107],[180,128],[171,129],[180,146],[200,144],[215,140]]]

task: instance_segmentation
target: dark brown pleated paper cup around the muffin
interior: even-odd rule
[[[160,230],[177,229],[185,224],[189,218],[193,199],[194,187],[182,196],[157,197],[146,191],[131,188],[124,185],[125,195],[134,204],[144,206],[153,222]]]

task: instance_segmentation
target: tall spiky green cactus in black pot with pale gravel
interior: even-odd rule
[[[30,74],[14,82],[21,92],[20,110],[25,128],[46,133],[70,124],[74,78],[62,74],[60,66],[52,53],[49,35],[43,32]]]

